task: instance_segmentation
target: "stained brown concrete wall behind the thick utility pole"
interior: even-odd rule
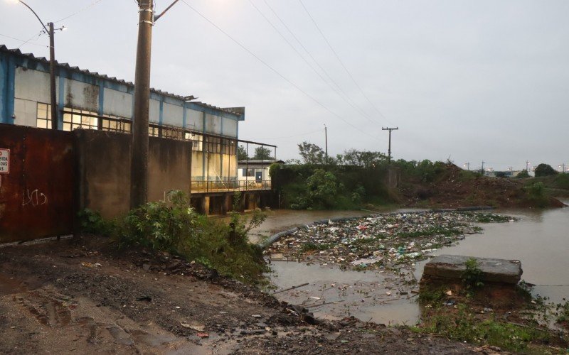
[[[130,146],[126,133],[75,130],[79,208],[105,218],[124,215],[130,204]],[[149,137],[149,201],[164,200],[169,190],[189,192],[191,143]]]

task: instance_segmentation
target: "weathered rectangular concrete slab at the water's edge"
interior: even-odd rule
[[[423,278],[461,279],[466,261],[472,256],[441,255],[433,258],[423,269]],[[482,270],[482,282],[516,284],[521,278],[521,262],[491,258],[475,258]]]

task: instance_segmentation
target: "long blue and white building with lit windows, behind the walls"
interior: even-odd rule
[[[57,64],[58,129],[129,132],[134,84]],[[0,45],[0,123],[51,128],[49,61]],[[149,135],[193,141],[192,182],[237,181],[239,122],[245,108],[219,108],[150,90]]]

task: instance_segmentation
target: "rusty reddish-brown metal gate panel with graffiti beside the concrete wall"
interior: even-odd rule
[[[73,134],[0,124],[10,173],[0,175],[0,243],[71,234],[74,217]]]

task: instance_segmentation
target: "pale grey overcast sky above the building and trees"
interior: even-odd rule
[[[134,82],[137,1],[26,4],[68,28],[58,62]],[[0,14],[0,43],[48,57],[31,11],[0,0]],[[151,87],[245,107],[240,138],[283,160],[302,141],[324,148],[324,125],[330,155],[387,153],[382,127],[398,127],[394,159],[560,169],[568,16],[565,0],[180,0],[153,28]]]

